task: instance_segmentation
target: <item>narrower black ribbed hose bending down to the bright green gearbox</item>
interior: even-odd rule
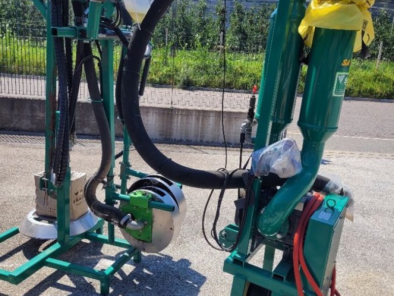
[[[92,46],[90,43],[85,43],[85,56],[92,56]],[[92,108],[96,117],[99,128],[99,135],[101,139],[101,162],[98,171],[88,180],[85,186],[85,199],[89,208],[93,213],[110,222],[119,224],[124,220],[126,213],[121,210],[101,203],[96,197],[97,187],[107,176],[111,167],[112,161],[112,141],[107,116],[104,111],[104,105],[101,102],[101,95],[99,85],[97,83],[97,75],[93,59],[87,59],[84,63],[86,80],[88,83],[89,94],[92,99]],[[125,225],[120,225],[125,226]]]

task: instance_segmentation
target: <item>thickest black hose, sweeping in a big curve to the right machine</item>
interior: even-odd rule
[[[121,111],[123,112],[123,119],[134,148],[142,159],[159,174],[184,185],[198,188],[220,189],[223,187],[226,180],[225,173],[222,171],[196,170],[172,161],[152,143],[142,122],[138,96],[138,83],[142,60],[144,58],[146,45],[155,27],[160,18],[168,10],[171,2],[172,0],[154,1],[140,26],[134,28],[122,74]],[[242,175],[246,172],[246,170],[237,170],[234,173],[230,172],[231,177],[227,181],[227,188],[244,188],[245,184]],[[275,174],[263,176],[262,179],[264,187],[280,186],[286,181],[285,179],[280,179]],[[315,185],[322,185],[324,183],[325,182],[322,182],[320,179],[320,176],[318,176]],[[318,190],[315,185],[313,189]]]

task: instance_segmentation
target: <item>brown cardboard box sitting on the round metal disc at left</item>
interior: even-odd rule
[[[48,195],[46,190],[40,190],[40,178],[44,172],[34,175],[35,183],[35,211],[37,215],[57,217],[56,194],[55,198]],[[71,172],[70,186],[70,220],[75,220],[88,212],[88,204],[85,200],[84,187],[86,174]]]

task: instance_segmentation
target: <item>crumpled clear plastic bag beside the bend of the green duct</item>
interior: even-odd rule
[[[280,178],[290,178],[301,170],[301,155],[293,139],[285,138],[252,153],[252,171],[255,176],[274,173]]]

